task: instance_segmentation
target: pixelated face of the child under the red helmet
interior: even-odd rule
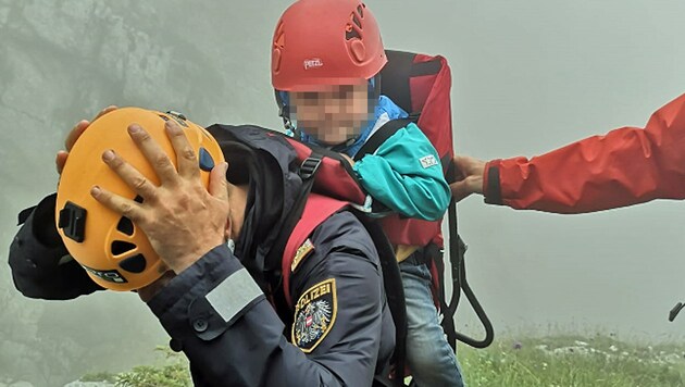
[[[319,86],[292,91],[290,103],[297,126],[319,141],[336,145],[356,137],[371,120],[366,80],[354,85]]]

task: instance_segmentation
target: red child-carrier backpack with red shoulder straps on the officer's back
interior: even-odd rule
[[[386,123],[369,138],[354,159],[359,160],[368,153],[373,153],[399,128],[404,127],[409,122],[414,122],[437,150],[447,180],[453,180],[451,74],[447,60],[440,55],[432,57],[390,50],[386,50],[386,54],[388,63],[381,72],[381,93],[409,112],[409,117]],[[298,160],[301,161],[300,174],[303,178],[311,179],[311,191],[319,194],[311,203],[308,202],[303,209],[296,210],[296,212],[300,211],[301,215],[296,216],[298,222],[294,222],[294,232],[289,240],[284,244],[283,284],[286,299],[291,304],[292,301],[289,300],[290,263],[296,257],[297,249],[311,232],[332,213],[349,203],[362,213],[373,214],[376,209],[369,205],[369,196],[361,188],[349,163],[342,157],[290,137],[287,137],[287,140],[297,151]],[[335,200],[338,202],[336,203]],[[463,261],[465,245],[457,232],[457,207],[453,200],[448,209],[448,220],[452,276],[452,295],[449,301],[445,295],[441,221],[428,222],[393,214],[378,222],[393,245],[426,247],[431,254],[428,266],[434,280],[434,299],[444,314],[443,327],[450,346],[456,348],[457,340],[460,340],[476,348],[485,348],[493,341],[494,330],[465,278]],[[462,290],[485,328],[485,338],[482,340],[456,332],[453,315]],[[402,307],[397,308],[403,308],[403,303]]]

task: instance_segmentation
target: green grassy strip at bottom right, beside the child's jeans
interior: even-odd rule
[[[462,346],[470,387],[685,386],[685,348],[642,346],[612,336],[499,338],[487,349]]]

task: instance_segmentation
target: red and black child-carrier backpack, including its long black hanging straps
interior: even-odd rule
[[[359,160],[364,154],[373,153],[399,128],[413,122],[437,150],[448,182],[453,180],[451,75],[447,61],[439,55],[431,57],[402,51],[386,50],[386,54],[388,63],[381,72],[381,93],[390,98],[410,114],[407,118],[391,120],[376,130],[354,159]],[[276,100],[281,105],[282,100],[278,93],[276,93]],[[433,276],[434,300],[443,313],[443,328],[452,349],[456,349],[457,340],[475,348],[485,348],[493,342],[491,323],[466,282],[464,266],[466,246],[458,234],[457,205],[453,200],[448,209],[452,278],[452,295],[448,300],[445,294],[441,221],[407,219],[398,214],[375,219],[373,215],[385,209],[383,205],[378,207],[378,203],[373,203],[342,155],[314,145],[302,143],[278,132],[270,132],[269,135],[283,137],[292,146],[297,153],[296,167],[303,182],[300,196],[266,258],[266,262],[278,262],[281,265],[271,280],[271,284],[275,284],[272,287],[276,290],[275,297],[283,301],[275,302],[276,304],[292,305],[289,295],[290,267],[297,249],[328,216],[342,209],[352,208],[357,210],[354,213],[370,232],[381,257],[385,291],[397,329],[397,346],[394,354],[396,370],[404,369],[407,316],[401,277],[393,245],[424,247],[427,254],[426,264]],[[462,291],[483,324],[485,338],[482,340],[456,330],[453,316]],[[286,315],[287,313],[287,311],[279,312],[284,321],[290,319]],[[403,385],[401,378],[395,378],[395,380],[398,385]]]

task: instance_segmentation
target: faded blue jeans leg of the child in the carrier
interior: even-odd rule
[[[463,387],[461,366],[447,342],[431,292],[431,272],[415,261],[421,250],[400,262],[407,300],[407,363],[419,387]]]

